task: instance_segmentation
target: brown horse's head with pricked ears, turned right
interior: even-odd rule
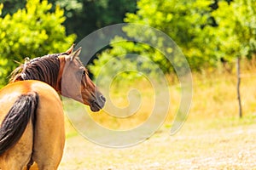
[[[73,46],[60,55],[60,71],[58,83],[59,93],[89,105],[91,111],[99,111],[105,105],[105,97],[91,81],[88,71],[79,59],[81,48],[73,51]]]

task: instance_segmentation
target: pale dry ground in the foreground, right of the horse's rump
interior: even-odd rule
[[[67,139],[61,170],[84,169],[256,169],[256,124],[201,127],[185,123],[177,134],[170,128],[142,144],[112,149],[79,135]]]

